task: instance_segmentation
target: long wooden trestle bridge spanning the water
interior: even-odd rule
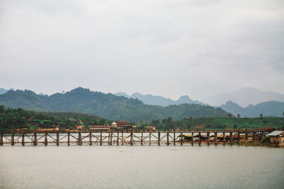
[[[241,144],[261,141],[260,130],[184,130],[184,131],[54,131],[0,133],[3,144],[87,144],[87,145],[186,145],[186,144]]]

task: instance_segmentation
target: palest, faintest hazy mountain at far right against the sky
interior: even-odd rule
[[[209,105],[222,105],[228,101],[246,107],[248,105],[256,105],[268,101],[284,102],[284,94],[271,91],[259,91],[256,88],[241,88],[230,93],[222,93],[204,99],[204,102],[209,103]]]

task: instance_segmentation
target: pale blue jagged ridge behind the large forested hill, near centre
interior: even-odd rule
[[[205,105],[204,103],[201,103],[200,101],[192,101],[192,99],[188,96],[180,96],[178,101],[173,101],[170,98],[165,98],[163,96],[153,96],[151,94],[143,95],[141,93],[133,93],[131,96],[127,95],[126,93],[115,93],[116,96],[124,96],[126,98],[137,98],[138,100],[142,101],[143,103],[146,103],[148,105],[161,105],[161,106],[168,106],[168,105],[180,105],[182,103],[193,103],[193,104],[199,104],[199,105]]]

